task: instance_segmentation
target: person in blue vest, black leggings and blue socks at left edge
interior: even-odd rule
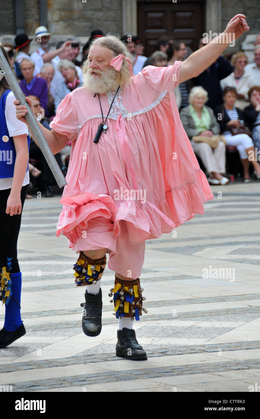
[[[6,60],[5,49],[0,46]],[[21,320],[21,272],[17,240],[29,186],[30,137],[26,124],[16,118],[15,96],[0,70],[0,300],[5,303],[5,323],[0,348],[26,331]]]

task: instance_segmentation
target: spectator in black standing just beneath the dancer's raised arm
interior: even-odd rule
[[[203,48],[209,43],[209,38],[201,38],[198,49]],[[207,106],[215,109],[217,105],[223,103],[220,80],[232,73],[233,67],[224,57],[220,55],[213,64],[211,64],[200,75],[192,79],[195,86],[202,86],[209,95]]]

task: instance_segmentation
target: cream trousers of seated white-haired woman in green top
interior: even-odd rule
[[[202,160],[207,173],[217,172],[225,173],[226,171],[226,146],[223,141],[219,142],[216,148],[212,148],[207,142],[190,141],[194,153]]]

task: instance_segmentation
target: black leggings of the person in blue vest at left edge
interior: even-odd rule
[[[22,186],[21,189],[21,203],[23,204],[28,191],[28,186]],[[6,266],[7,258],[13,258],[12,269],[10,273],[15,274],[20,272],[20,267],[17,260],[17,241],[21,227],[21,214],[12,215],[6,214],[6,204],[10,195],[11,189],[0,190],[0,267]]]

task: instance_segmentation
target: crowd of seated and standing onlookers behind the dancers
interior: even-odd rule
[[[92,31],[82,49],[80,39],[68,38],[53,50],[49,46],[50,36],[45,26],[36,28],[39,48],[31,55],[32,39],[26,34],[17,35],[15,45],[10,39],[2,39],[23,93],[31,98],[37,119],[48,129],[62,99],[82,86],[82,65],[88,57],[91,41],[103,36],[103,32]],[[183,41],[162,36],[157,41],[157,51],[146,57],[144,45],[137,36],[125,35],[121,40],[132,54],[134,74],[147,65],[173,65],[193,52]],[[201,38],[198,48],[203,48],[209,41],[207,37]],[[174,90],[183,127],[211,184],[229,182],[227,150],[237,150],[240,158],[237,164],[242,163],[245,183],[251,181],[250,161],[255,178],[260,179],[257,154],[260,151],[260,35],[255,40],[254,54],[252,63],[248,63],[244,52],[236,52],[231,57],[221,54],[198,77],[180,83]],[[70,148],[68,142],[62,152],[55,155],[64,174]],[[46,196],[52,196],[55,179],[33,139],[29,170],[37,187]]]

